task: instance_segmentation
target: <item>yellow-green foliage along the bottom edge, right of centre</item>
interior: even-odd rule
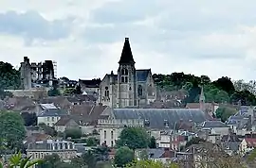
[[[137,160],[125,166],[125,168],[179,168],[175,163],[164,164],[154,160]]]

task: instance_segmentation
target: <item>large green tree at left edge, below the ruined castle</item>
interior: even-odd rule
[[[25,136],[21,115],[12,111],[0,111],[0,137],[7,141],[9,149],[20,148]]]

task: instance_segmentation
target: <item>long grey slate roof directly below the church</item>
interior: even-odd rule
[[[165,120],[174,128],[181,120],[199,124],[209,117],[200,109],[113,109],[113,115],[116,119],[148,120],[152,128],[164,128]]]

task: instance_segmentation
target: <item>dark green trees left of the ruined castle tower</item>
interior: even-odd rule
[[[8,62],[0,61],[0,90],[20,89],[20,72]]]

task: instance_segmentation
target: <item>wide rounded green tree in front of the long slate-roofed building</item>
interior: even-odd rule
[[[140,127],[125,127],[122,129],[118,146],[128,146],[130,149],[146,148],[149,144],[149,134],[144,128]]]

